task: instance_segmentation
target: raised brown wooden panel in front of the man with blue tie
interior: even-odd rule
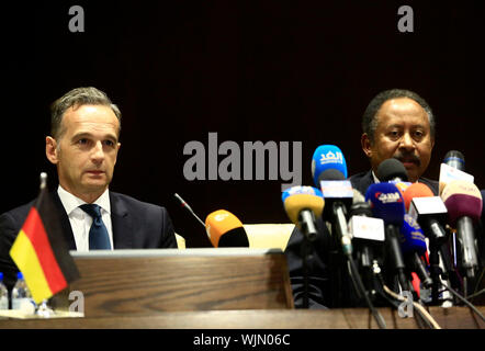
[[[183,250],[189,251],[189,250]],[[284,254],[75,258],[84,315],[292,308]]]

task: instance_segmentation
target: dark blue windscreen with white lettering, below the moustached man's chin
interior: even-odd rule
[[[404,199],[393,183],[374,183],[365,192],[365,201],[371,202],[372,214],[385,224],[401,226],[406,213]]]

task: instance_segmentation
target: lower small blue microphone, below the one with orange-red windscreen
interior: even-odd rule
[[[431,287],[432,280],[420,258],[427,251],[425,235],[418,223],[408,214],[404,215],[401,227],[401,249],[407,265],[418,274],[425,287]]]

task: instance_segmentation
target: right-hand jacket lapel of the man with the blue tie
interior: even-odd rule
[[[133,248],[133,225],[123,199],[110,191],[110,203],[114,249]]]

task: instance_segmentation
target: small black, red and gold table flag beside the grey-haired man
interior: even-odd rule
[[[23,273],[37,304],[79,278],[45,181],[10,249],[10,256]]]

